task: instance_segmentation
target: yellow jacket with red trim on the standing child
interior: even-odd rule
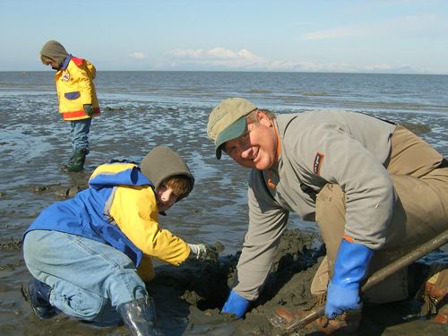
[[[99,102],[93,84],[95,75],[95,66],[88,60],[71,55],[65,58],[55,76],[59,113],[64,120],[89,118],[84,113],[84,104],[91,104],[93,116],[99,116]]]

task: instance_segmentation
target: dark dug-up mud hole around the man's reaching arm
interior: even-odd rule
[[[273,330],[267,317],[274,308],[290,304],[309,306],[314,302],[309,285],[318,260],[324,254],[322,244],[316,244],[319,239],[314,235],[302,235],[298,230],[287,230],[283,234],[263,294],[249,308],[244,320],[237,320],[231,314],[220,314],[237,274],[240,252],[221,256],[219,263],[186,262],[178,268],[159,266],[148,289],[155,297],[158,314],[160,309],[162,314],[169,310],[168,297],[171,300],[178,297],[187,304],[183,334],[271,335]],[[159,299],[160,292],[165,293],[162,300]],[[176,299],[172,305],[179,305],[175,302]],[[161,321],[162,328],[164,324]]]

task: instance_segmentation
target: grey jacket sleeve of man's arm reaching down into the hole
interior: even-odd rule
[[[252,174],[257,173],[260,172],[253,171]],[[258,297],[271,270],[280,236],[289,217],[289,211],[277,206],[262,184],[261,177],[251,178],[247,195],[249,227],[234,281],[234,290],[251,301]]]

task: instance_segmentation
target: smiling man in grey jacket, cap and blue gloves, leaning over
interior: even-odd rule
[[[230,98],[211,111],[207,133],[217,159],[224,151],[252,169],[249,227],[224,313],[242,317],[259,296],[289,211],[321,229],[327,255],[311,292],[326,293],[330,319],[361,309],[366,275],[448,226],[446,159],[400,125],[340,110],[276,117]],[[399,271],[365,299],[405,297]]]

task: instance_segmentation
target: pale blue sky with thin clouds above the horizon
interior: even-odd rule
[[[445,0],[1,0],[0,71],[56,39],[99,71],[448,74]]]

